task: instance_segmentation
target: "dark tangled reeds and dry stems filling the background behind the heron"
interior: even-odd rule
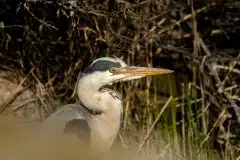
[[[42,121],[78,101],[77,76],[92,60],[117,56],[174,74],[113,86],[124,98],[116,148],[154,159],[240,158],[239,2],[0,4],[2,115]]]

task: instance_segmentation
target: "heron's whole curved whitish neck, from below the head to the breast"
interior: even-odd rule
[[[111,89],[97,86],[99,83],[94,80],[95,78],[89,77],[80,79],[77,93],[79,100],[90,114],[93,114],[91,111],[101,113],[90,116],[88,119],[88,125],[91,128],[91,146],[97,147],[101,144],[101,148],[109,149],[121,124],[121,97]]]

